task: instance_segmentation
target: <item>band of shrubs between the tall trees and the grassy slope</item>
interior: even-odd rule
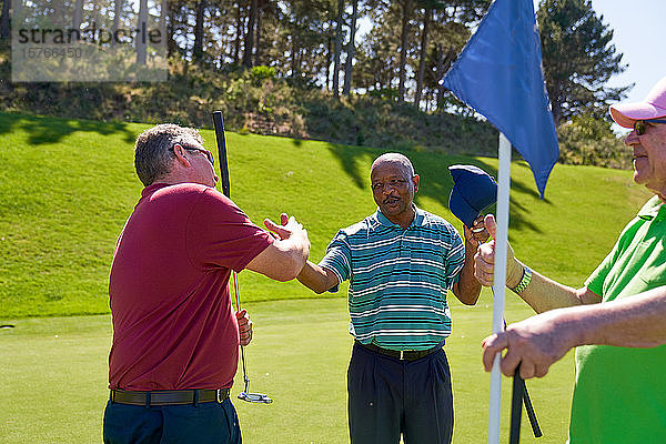
[[[424,113],[397,103],[395,89],[335,99],[316,81],[281,78],[273,67],[216,69],[178,56],[159,83],[30,83],[9,81],[9,46],[0,42],[0,109],[101,121],[174,122],[211,127],[222,111],[225,128],[242,133],[287,135],[333,143],[417,149],[453,154],[497,153],[497,131],[451,99],[458,110]],[[447,108],[448,109],[448,108]],[[563,163],[630,167],[630,153],[608,122],[574,118],[558,129]]]

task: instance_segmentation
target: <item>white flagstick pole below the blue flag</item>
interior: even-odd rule
[[[493,333],[504,329],[504,291],[506,283],[506,243],[508,238],[508,191],[511,185],[511,142],[500,133],[500,169],[497,183],[497,232],[495,238],[495,280],[493,284]],[[502,401],[501,354],[495,355],[491,372],[488,408],[488,444],[500,443],[500,408]]]

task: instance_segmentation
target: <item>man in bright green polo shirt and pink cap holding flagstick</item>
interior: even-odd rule
[[[610,115],[634,130],[625,144],[634,153],[634,181],[655,193],[623,230],[610,253],[576,290],[554,282],[515,259],[511,248],[507,286],[536,312],[484,340],[492,369],[507,350],[502,372],[544,376],[576,346],[576,385],[571,444],[666,442],[666,78],[643,102],[610,107]],[[495,223],[486,216],[494,235]],[[494,243],[481,245],[475,275],[492,284]]]

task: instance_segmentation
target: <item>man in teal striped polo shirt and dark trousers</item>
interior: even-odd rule
[[[406,444],[450,443],[446,293],[476,303],[473,259],[487,232],[465,228],[463,243],[453,225],[416,208],[418,175],[402,154],[374,161],[371,186],[377,211],[341,230],[320,264],[309,261],[297,279],[316,293],[350,280],[352,443],[392,444],[401,434]]]

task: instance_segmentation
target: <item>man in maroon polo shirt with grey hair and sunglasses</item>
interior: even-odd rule
[[[104,443],[240,443],[229,389],[252,322],[244,310],[234,313],[229,278],[249,269],[294,279],[307,234],[291,218],[265,220],[271,235],[218,192],[212,154],[195,130],[143,132],[134,164],[145,188],[111,265]]]

